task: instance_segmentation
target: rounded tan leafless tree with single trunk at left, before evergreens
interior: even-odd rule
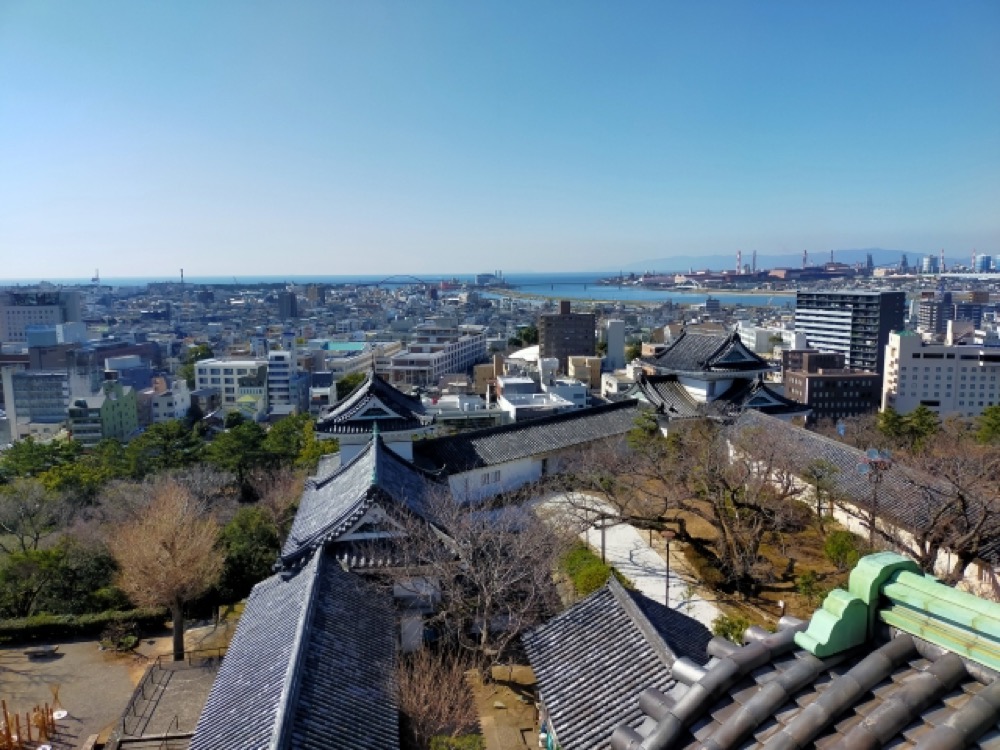
[[[219,578],[218,524],[183,486],[171,480],[149,487],[148,506],[116,528],[108,546],[118,584],[137,604],[168,607],[174,659],[184,658],[184,605]]]

